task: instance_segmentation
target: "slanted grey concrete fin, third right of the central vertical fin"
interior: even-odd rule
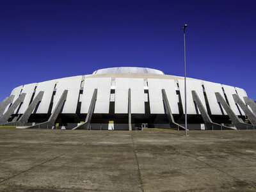
[[[235,113],[232,111],[230,106],[228,106],[227,102],[225,101],[225,99],[223,99],[223,97],[219,92],[216,92],[215,95],[216,95],[217,101],[220,102],[221,106],[225,109],[225,111],[227,112],[227,115],[231,119],[232,123],[235,124],[237,129],[248,129],[248,127],[249,129],[254,128],[253,125],[245,124],[244,122],[241,122],[241,120],[239,120],[239,118],[235,115]]]

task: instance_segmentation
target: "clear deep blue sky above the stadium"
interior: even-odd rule
[[[256,100],[256,1],[0,1],[0,100],[21,84],[150,67]]]

